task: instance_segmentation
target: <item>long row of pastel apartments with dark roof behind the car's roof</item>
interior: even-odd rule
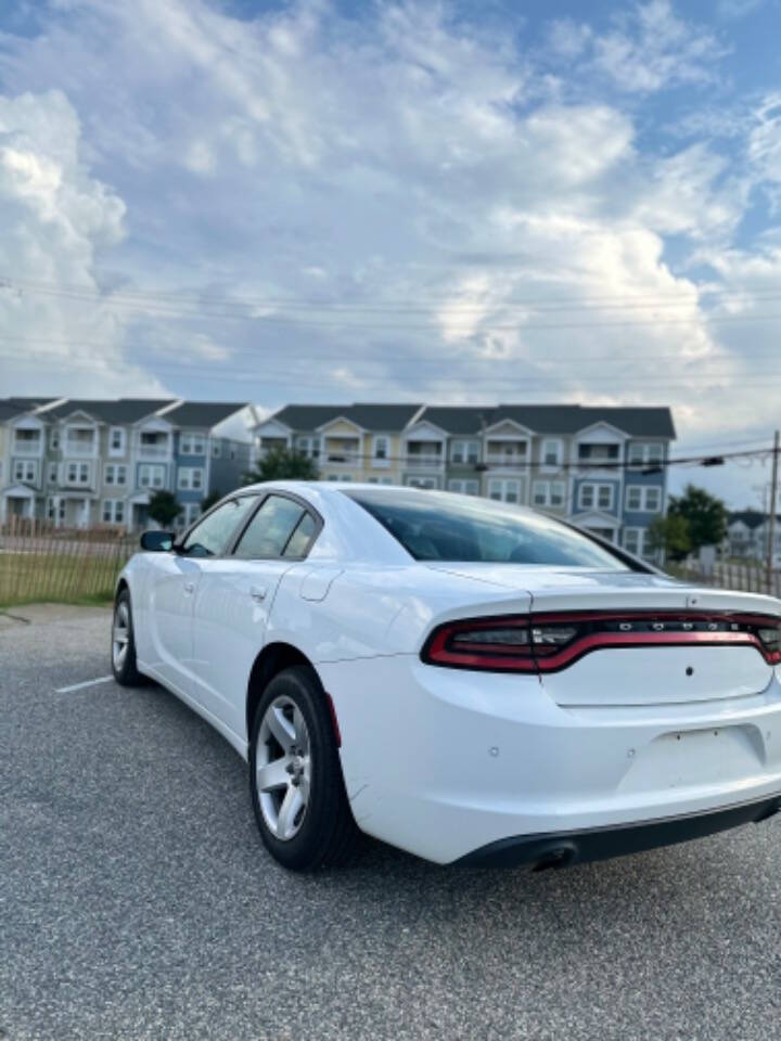
[[[530,505],[651,557],[675,436],[668,408],[295,404],[255,427],[255,453],[295,448],[325,480]]]

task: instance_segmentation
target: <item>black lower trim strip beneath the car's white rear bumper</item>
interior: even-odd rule
[[[660,846],[674,846],[692,838],[705,838],[741,824],[758,824],[781,810],[781,795],[758,802],[741,802],[708,813],[687,813],[641,824],[620,824],[582,832],[547,835],[516,835],[501,838],[461,857],[464,868],[518,868],[536,871],[566,868],[569,864],[609,860],[627,853],[640,853]]]

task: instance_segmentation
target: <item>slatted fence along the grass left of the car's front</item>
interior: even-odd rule
[[[0,526],[0,606],[107,599],[137,548],[138,537],[117,528],[11,517]]]

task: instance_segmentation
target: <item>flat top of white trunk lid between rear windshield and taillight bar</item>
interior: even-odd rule
[[[781,616],[781,601],[712,589],[665,575],[524,564],[430,563],[435,571],[528,593],[532,611],[740,611]]]

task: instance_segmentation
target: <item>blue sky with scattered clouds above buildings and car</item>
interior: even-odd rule
[[[668,403],[679,453],[766,445],[780,34],[779,0],[4,0],[0,395]]]

